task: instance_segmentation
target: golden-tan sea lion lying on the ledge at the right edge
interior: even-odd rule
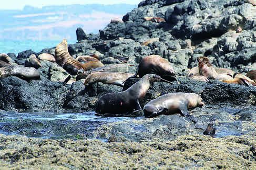
[[[220,80],[224,83],[232,83],[232,84],[244,84],[247,86],[256,86],[256,82],[251,80],[249,77],[242,74],[234,74],[233,78]]]

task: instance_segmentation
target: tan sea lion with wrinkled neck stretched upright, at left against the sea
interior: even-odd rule
[[[84,73],[84,71],[103,66],[103,63],[101,63],[99,61],[98,62],[91,61],[91,62],[82,64],[79,61],[77,61],[76,59],[74,59],[68,53],[68,46],[67,46],[66,39],[64,39],[62,42],[60,42],[58,44],[58,46],[56,47],[55,59],[56,59],[57,64],[59,64],[60,66],[63,66],[63,69],[65,69],[71,75]]]

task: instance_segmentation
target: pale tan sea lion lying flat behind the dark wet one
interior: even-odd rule
[[[101,82],[104,84],[114,84],[124,87],[124,81],[132,74],[129,73],[108,73],[108,72],[94,72],[90,73],[86,79],[84,85]]]

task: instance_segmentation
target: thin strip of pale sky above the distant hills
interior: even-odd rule
[[[42,7],[70,4],[139,4],[141,1],[142,0],[7,0],[1,3],[0,9],[22,9],[25,5]]]

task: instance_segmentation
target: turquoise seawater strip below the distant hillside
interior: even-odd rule
[[[35,52],[40,52],[46,48],[56,47],[62,40],[0,40],[0,53],[13,52],[18,55],[19,52],[25,50],[33,50]],[[68,44],[76,43],[76,40],[68,40]]]

